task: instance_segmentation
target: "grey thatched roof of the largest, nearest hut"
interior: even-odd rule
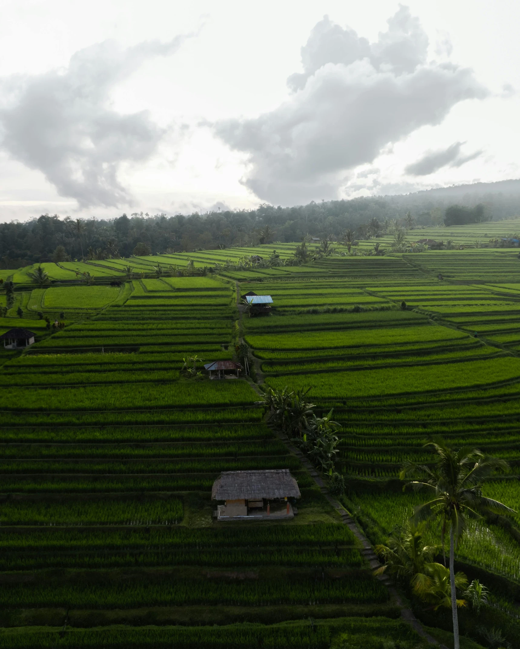
[[[289,469],[222,471],[211,489],[213,500],[246,498],[300,498],[300,489]]]

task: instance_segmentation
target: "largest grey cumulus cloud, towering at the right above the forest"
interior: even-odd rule
[[[259,198],[290,204],[337,196],[349,169],[367,164],[454,104],[484,98],[473,71],[428,63],[428,38],[401,6],[369,43],[325,17],[302,48],[303,73],[285,103],[255,119],[227,119],[214,132],[246,153],[242,182]]]

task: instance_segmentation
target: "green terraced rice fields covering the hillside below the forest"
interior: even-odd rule
[[[519,223],[0,271],[0,648],[452,647],[439,448],[503,506],[460,644],[520,647]]]

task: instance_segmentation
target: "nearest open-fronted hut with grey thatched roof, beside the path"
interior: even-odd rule
[[[223,520],[292,518],[289,498],[300,496],[289,469],[222,471],[211,489],[212,500],[224,500],[224,505],[217,508],[217,517]]]

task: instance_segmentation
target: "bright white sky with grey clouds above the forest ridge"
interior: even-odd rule
[[[0,222],[520,177],[509,0],[0,0]]]

